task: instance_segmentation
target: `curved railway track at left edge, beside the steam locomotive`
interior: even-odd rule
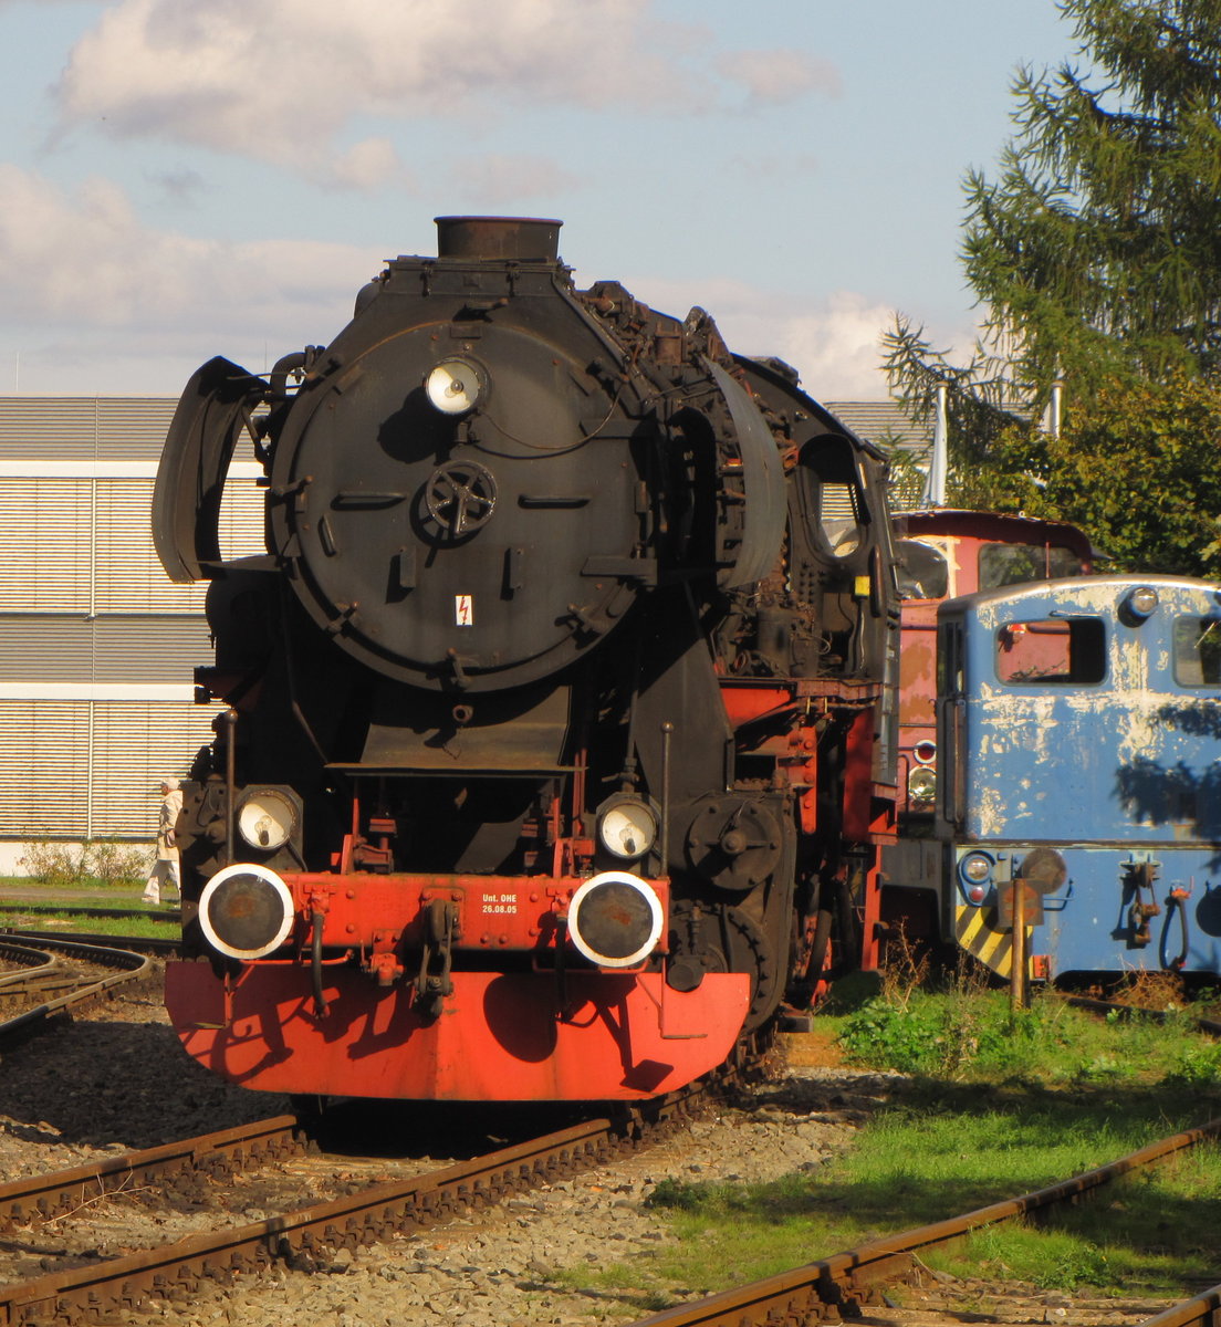
[[[64,937],[33,943],[21,933],[0,936],[0,1047],[45,1031],[56,1019],[147,977],[146,954]]]

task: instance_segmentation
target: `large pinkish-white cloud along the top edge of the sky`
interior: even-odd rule
[[[831,81],[786,52],[718,61],[713,35],[654,0],[118,0],[73,49],[62,127],[162,137],[315,174],[369,117],[476,123],[506,105],[695,114],[782,101]],[[362,147],[366,154],[370,149]],[[360,182],[364,159],[348,162]]]

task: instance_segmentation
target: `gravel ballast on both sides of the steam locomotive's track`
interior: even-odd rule
[[[851,1144],[896,1082],[836,1068],[788,1071],[743,1108],[710,1113],[605,1168],[356,1257],[340,1253],[309,1275],[275,1269],[207,1286],[190,1302],[158,1302],[153,1318],[184,1327],[575,1327],[646,1316],[649,1308],[630,1290],[581,1294],[560,1289],[555,1274],[568,1271],[565,1279],[580,1285],[583,1269],[620,1263],[640,1266],[642,1285],[654,1290],[686,1290],[657,1286],[648,1275],[673,1238],[665,1218],[645,1205],[660,1180],[755,1181],[820,1166]],[[146,983],[4,1056],[0,1174],[57,1170],[285,1109],[284,1097],[222,1083],[188,1059],[158,985]],[[110,1216],[118,1229],[110,1230],[114,1247],[106,1253],[122,1251],[122,1213]]]

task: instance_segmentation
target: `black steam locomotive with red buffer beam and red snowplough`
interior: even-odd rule
[[[442,218],[325,348],[223,358],[154,536],[211,581],[219,698],[178,825],[187,1050],[251,1087],[632,1099],[721,1063],[828,954],[893,811],[879,453],[559,223]],[[267,553],[226,561],[235,449]]]

